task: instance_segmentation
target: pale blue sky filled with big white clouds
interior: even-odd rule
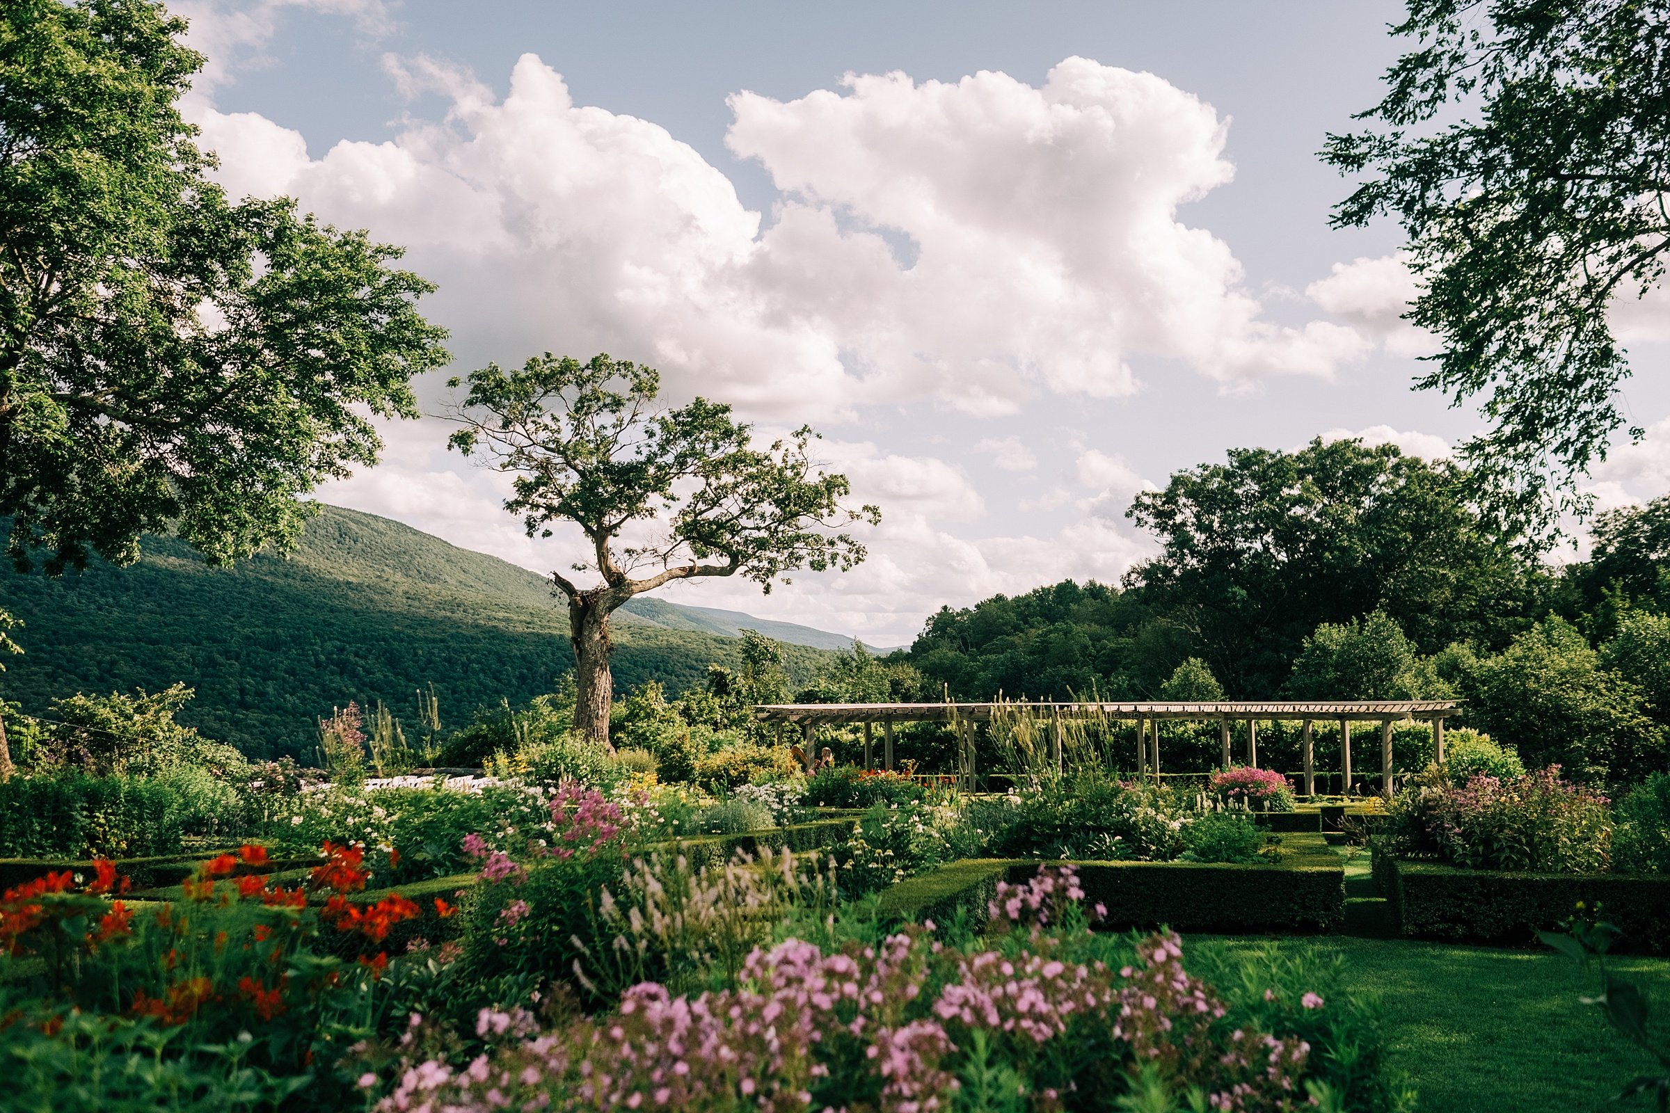
[[[554,352],[735,405],[882,507],[868,559],[770,596],[656,594],[908,644],[940,606],[1114,582],[1131,497],[1232,447],[1480,429],[1413,392],[1386,222],[1316,159],[1374,103],[1401,5],[1284,0],[180,0],[234,195],[401,244],[453,367],[321,487],[539,572],[508,479],[446,451],[451,374]],[[1670,491],[1670,297],[1618,307],[1648,429],[1600,506]]]

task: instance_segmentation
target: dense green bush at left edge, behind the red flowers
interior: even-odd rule
[[[192,814],[154,778],[15,776],[0,783],[0,856],[172,854]]]

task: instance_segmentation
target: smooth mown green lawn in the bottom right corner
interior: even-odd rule
[[[1348,936],[1222,943],[1339,954],[1351,983],[1381,998],[1393,1061],[1414,1080],[1423,1113],[1600,1110],[1623,1083],[1653,1068],[1598,1010],[1578,1003],[1597,991],[1595,976],[1548,951]],[[1670,1038],[1670,959],[1615,958],[1613,969],[1647,990],[1653,1031]]]

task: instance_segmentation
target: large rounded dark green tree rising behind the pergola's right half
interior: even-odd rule
[[[1423,652],[1505,644],[1533,577],[1453,466],[1389,444],[1232,449],[1227,464],[1141,492],[1126,514],[1162,546],[1126,584],[1239,698],[1273,696],[1318,626],[1374,609]]]

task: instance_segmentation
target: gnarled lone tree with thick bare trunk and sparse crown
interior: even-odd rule
[[[453,379],[454,387],[463,379]],[[660,375],[608,355],[584,364],[546,352],[521,370],[498,364],[468,377],[451,446],[481,452],[514,476],[504,509],[528,536],[551,536],[554,522],[579,526],[590,559],[576,572],[603,582],[579,587],[561,572],[551,581],[568,599],[579,703],[574,728],[608,743],[613,679],[610,614],[633,596],[676,579],[745,576],[767,592],[787,572],[858,564],[863,546],[842,527],[880,522],[873,506],[848,509],[845,476],[813,469],[808,427],[767,451],[728,405],[695,399],[656,405]],[[623,529],[660,527],[623,544]],[[645,571],[645,576],[635,572]]]

